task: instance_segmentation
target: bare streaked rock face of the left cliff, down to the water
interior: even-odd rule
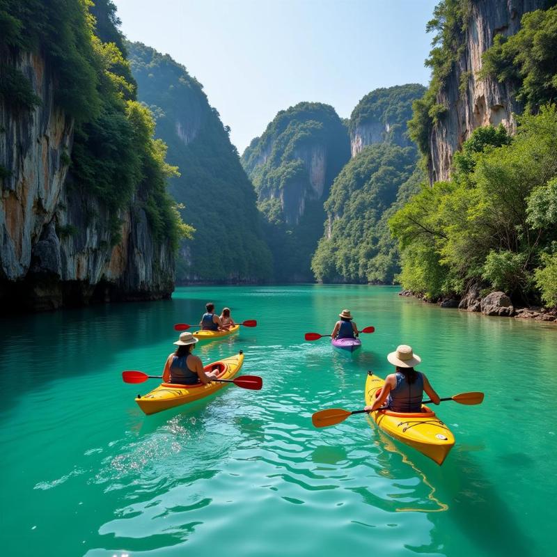
[[[173,291],[174,258],[155,244],[139,203],[122,211],[116,245],[102,201],[68,175],[73,122],[54,104],[45,61],[21,54],[13,64],[42,104],[12,111],[0,102],[0,300],[30,310],[89,301],[159,299]],[[117,187],[117,185],[115,185]]]

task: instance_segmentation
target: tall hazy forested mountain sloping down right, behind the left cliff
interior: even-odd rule
[[[156,115],[156,135],[180,168],[171,194],[196,229],[182,244],[176,279],[265,281],[271,274],[253,186],[228,129],[210,107],[201,84],[184,66],[139,42],[128,44],[139,98]]]

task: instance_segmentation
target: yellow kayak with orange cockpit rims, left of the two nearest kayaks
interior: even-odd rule
[[[232,379],[240,371],[242,363],[244,363],[244,354],[240,350],[239,354],[210,363],[203,369],[208,372],[219,368],[218,379]],[[209,383],[205,385],[201,382],[195,385],[162,383],[150,393],[143,396],[138,395],[135,401],[146,414],[155,414],[168,408],[185,405],[188,402],[194,402],[194,400],[210,396],[225,385],[226,383]]]

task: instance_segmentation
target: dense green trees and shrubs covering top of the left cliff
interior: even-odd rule
[[[164,162],[166,146],[152,138],[152,117],[136,101],[129,63],[118,48],[123,38],[117,25],[110,0],[96,5],[88,0],[0,0],[0,54],[6,58],[11,49],[45,57],[56,79],[55,102],[76,123],[69,183],[108,207],[113,244],[120,240],[119,210],[135,198],[155,240],[169,238],[178,246],[191,229],[166,193],[166,179],[176,169]],[[29,87],[20,74],[1,80],[0,95],[15,95],[20,106],[32,110],[36,99]]]

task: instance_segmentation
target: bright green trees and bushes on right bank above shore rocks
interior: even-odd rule
[[[471,283],[516,303],[557,303],[557,109],[519,117],[516,136],[478,128],[455,173],[391,219],[405,288],[430,299]]]

